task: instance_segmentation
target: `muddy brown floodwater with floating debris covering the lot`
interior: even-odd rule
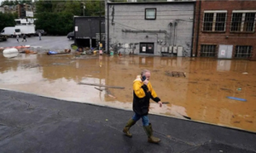
[[[169,102],[160,108],[151,101],[150,113],[255,133],[255,67],[255,61],[212,58],[0,53],[0,88],[132,110],[132,82],[148,69],[154,90]],[[184,76],[173,77],[173,71]]]

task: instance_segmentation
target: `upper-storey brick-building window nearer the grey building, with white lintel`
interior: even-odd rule
[[[205,11],[203,31],[225,31],[227,11]]]

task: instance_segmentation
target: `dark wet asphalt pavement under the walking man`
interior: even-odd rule
[[[0,90],[0,152],[256,152],[256,134],[149,115],[160,144],[149,144],[142,122],[122,129],[132,111]]]

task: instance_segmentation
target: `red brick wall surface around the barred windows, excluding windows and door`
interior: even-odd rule
[[[194,47],[193,54],[196,54],[197,21],[199,17],[200,0],[196,2],[195,10],[195,29],[194,29]],[[202,22],[205,10],[227,10],[227,20],[225,32],[203,32]],[[232,10],[256,10],[256,1],[251,0],[201,0],[201,20],[199,29],[199,41],[197,46],[197,56],[200,56],[201,44],[229,44],[233,45],[233,56],[236,51],[236,45],[253,46],[253,58],[256,59],[256,30],[253,33],[234,33],[230,32]]]

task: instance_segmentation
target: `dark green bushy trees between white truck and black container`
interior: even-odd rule
[[[67,35],[69,31],[73,31],[73,14],[71,13],[44,12],[37,14],[37,18],[35,22],[37,29],[44,29],[49,34]]]

